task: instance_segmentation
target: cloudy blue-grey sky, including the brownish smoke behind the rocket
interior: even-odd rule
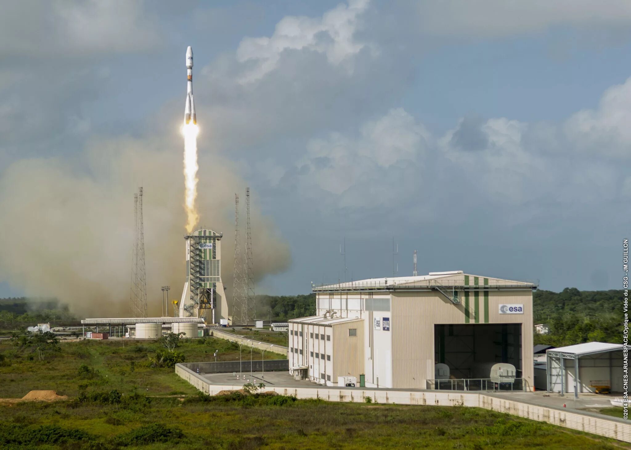
[[[398,275],[622,284],[626,0],[2,3],[0,296],[128,290],[138,185],[148,289],[182,289],[187,45],[227,275],[249,185],[261,293],[392,276],[393,238]]]

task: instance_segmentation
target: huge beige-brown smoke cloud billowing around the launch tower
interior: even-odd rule
[[[246,182],[199,138],[200,228],[223,232],[221,275],[232,302],[234,193]],[[16,161],[0,178],[0,277],[28,296],[59,298],[80,316],[129,314],[133,193],[143,186],[150,316],[161,286],[180,298],[185,279],[182,138],[103,139],[73,158]],[[290,265],[288,245],[252,201],[256,279]]]

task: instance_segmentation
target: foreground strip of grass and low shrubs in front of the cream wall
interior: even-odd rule
[[[124,398],[124,396],[123,396]],[[615,449],[618,443],[480,408],[327,403],[230,393],[122,403],[18,403],[0,447],[117,449]]]

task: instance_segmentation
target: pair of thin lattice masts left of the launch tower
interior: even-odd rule
[[[131,262],[131,316],[147,316],[147,282],[144,272],[143,188],[134,193],[135,236]]]

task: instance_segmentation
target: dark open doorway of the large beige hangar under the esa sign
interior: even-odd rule
[[[521,323],[435,325],[434,364],[447,364],[450,379],[488,379],[498,362],[522,377]]]

